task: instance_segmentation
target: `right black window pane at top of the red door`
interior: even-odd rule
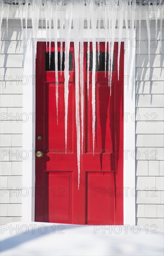
[[[89,71],[92,71],[93,66],[93,53],[90,52],[90,64]],[[106,71],[109,70],[109,53],[106,53]],[[87,67],[86,67],[87,68]],[[99,54],[99,67],[98,67],[98,52],[96,52],[96,71],[105,71],[105,52],[100,52]],[[113,65],[112,71],[114,71],[114,53],[113,53]]]

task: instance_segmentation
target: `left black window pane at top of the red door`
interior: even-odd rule
[[[55,52],[51,52],[51,57],[50,57],[50,66],[49,66],[49,52],[45,53],[46,54],[46,71],[55,71]],[[60,52],[58,52],[58,71],[60,71],[60,63],[61,63],[61,56]],[[62,56],[62,67],[61,71],[64,71],[65,68],[65,52],[63,52]],[[73,53],[69,53],[69,71],[73,70]]]

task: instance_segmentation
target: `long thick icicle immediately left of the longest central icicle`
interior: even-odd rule
[[[68,2],[65,13],[65,144],[67,147],[67,115],[68,115],[68,83],[69,83],[69,49],[70,49],[70,35],[71,35],[71,23],[72,23],[72,4]]]

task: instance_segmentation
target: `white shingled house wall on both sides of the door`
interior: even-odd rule
[[[2,21],[3,44],[0,56],[0,223],[21,221],[23,147],[23,38],[20,20]],[[164,28],[164,27],[163,27]],[[157,43],[151,41],[151,61],[147,48],[146,23],[142,21],[141,48],[136,49],[136,223],[164,226],[164,34],[160,55],[159,24]],[[138,28],[137,28],[137,38]],[[151,21],[151,38],[155,22]],[[17,47],[18,46],[18,47]],[[2,81],[6,76],[6,82]],[[153,77],[152,77],[153,76]],[[152,78],[151,78],[152,77]],[[152,80],[156,80],[152,83]],[[135,78],[134,78],[135,81]],[[154,114],[155,113],[155,114]],[[134,117],[128,117],[134,118]],[[155,119],[154,119],[155,118]],[[154,119],[154,121],[152,120]],[[13,154],[13,155],[12,155]],[[16,155],[14,155],[16,154]],[[128,155],[131,157],[131,154]],[[9,190],[5,191],[2,188]],[[156,188],[153,193],[151,189]],[[6,193],[5,193],[6,192]]]

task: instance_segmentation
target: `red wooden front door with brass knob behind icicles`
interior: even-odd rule
[[[48,48],[49,51],[49,48]],[[100,67],[96,71],[96,134],[92,146],[92,43],[90,86],[87,98],[87,43],[84,43],[84,143],[80,156],[78,190],[75,120],[74,47],[70,45],[67,152],[65,152],[64,71],[58,71],[59,108],[56,110],[55,71],[49,68],[46,43],[37,45],[36,59],[36,157],[35,221],[74,224],[123,224],[123,76],[124,44],[114,45],[112,93],[104,71],[105,44],[100,43]],[[65,45],[63,46],[63,52]],[[58,45],[58,52],[60,47]],[[59,58],[58,53],[58,59]],[[63,54],[64,62],[64,54]],[[47,64],[48,63],[48,64]],[[58,65],[60,67],[60,63]],[[64,65],[63,65],[64,68]],[[49,69],[52,69],[49,70]],[[59,69],[58,69],[59,70]]]

